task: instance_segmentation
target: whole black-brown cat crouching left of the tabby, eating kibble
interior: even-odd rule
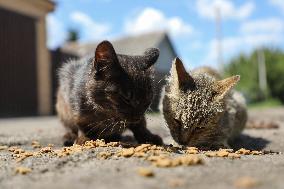
[[[104,41],[95,56],[66,63],[59,71],[56,105],[67,129],[64,144],[117,140],[126,128],[139,143],[162,144],[144,116],[153,97],[150,67],[158,56],[157,49],[144,56],[119,55]]]

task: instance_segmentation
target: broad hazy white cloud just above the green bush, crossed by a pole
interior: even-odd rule
[[[239,53],[250,53],[256,48],[280,46],[284,43],[284,21],[277,17],[247,20],[240,25],[236,36],[224,37],[222,40],[224,62]],[[217,62],[217,41],[208,44],[208,53],[202,64]]]

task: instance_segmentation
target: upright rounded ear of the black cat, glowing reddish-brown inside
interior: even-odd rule
[[[95,62],[113,62],[115,60],[117,60],[117,56],[109,41],[103,41],[98,44],[95,52]]]

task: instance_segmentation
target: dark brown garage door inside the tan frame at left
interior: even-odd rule
[[[0,23],[5,26],[0,27],[1,117],[37,114],[35,22],[0,8]]]

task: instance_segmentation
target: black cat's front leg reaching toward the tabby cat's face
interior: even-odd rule
[[[160,136],[151,133],[147,129],[145,117],[143,117],[140,122],[129,124],[128,128],[133,132],[138,143],[163,144],[163,140]]]

